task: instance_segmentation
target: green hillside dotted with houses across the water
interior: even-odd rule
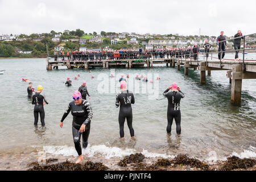
[[[232,37],[226,37],[231,39]],[[202,46],[208,40],[216,48],[216,36],[183,36],[179,34],[137,34],[136,32],[97,32],[85,33],[77,29],[64,32],[51,31],[42,34],[0,34],[0,57],[46,57],[55,51],[86,51],[86,49],[122,49],[122,48],[179,48],[197,44]],[[255,47],[255,37],[246,40],[247,47]],[[47,47],[46,47],[47,44]],[[227,42],[233,47],[233,42]]]

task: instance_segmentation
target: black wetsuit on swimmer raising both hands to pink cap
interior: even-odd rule
[[[171,127],[172,127],[172,121],[175,119],[176,123],[176,133],[181,133],[181,114],[180,114],[180,100],[181,98],[184,98],[184,94],[179,92],[168,92],[169,89],[164,91],[163,96],[168,98],[168,109],[167,109],[167,133],[171,133]]]

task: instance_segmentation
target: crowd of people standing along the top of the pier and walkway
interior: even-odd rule
[[[223,35],[224,32],[221,31],[221,35],[218,36],[216,40],[218,48],[218,59],[224,59],[226,51],[226,39]],[[243,38],[242,33],[238,30],[238,33],[235,35],[235,38]],[[241,38],[235,39],[234,48],[236,49],[236,59],[238,57],[238,52],[241,47]],[[208,40],[205,40],[205,44],[202,47],[204,49],[205,56],[209,56],[209,50],[212,48],[212,44],[208,43]],[[200,53],[199,46],[195,44],[193,47],[180,47],[180,48],[154,48],[154,49],[119,49],[116,51],[105,50],[105,51],[68,51],[66,54],[63,51],[60,51],[60,57],[64,61],[65,57],[68,60],[73,61],[102,61],[102,60],[131,60],[138,59],[139,57],[147,57],[152,59],[171,59],[172,57],[176,58],[185,58],[185,59],[198,59]],[[55,61],[59,57],[59,54],[55,52]]]

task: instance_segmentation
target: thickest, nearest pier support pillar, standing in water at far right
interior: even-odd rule
[[[231,102],[232,104],[241,104],[242,91],[242,65],[234,64],[232,69]],[[240,73],[237,73],[240,72]]]

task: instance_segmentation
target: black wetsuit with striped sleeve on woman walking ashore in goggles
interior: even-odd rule
[[[88,145],[88,138],[90,134],[90,122],[93,117],[92,108],[88,101],[82,100],[80,105],[76,105],[75,101],[72,101],[68,104],[68,109],[63,114],[61,118],[61,122],[68,116],[69,112],[73,115],[73,122],[72,122],[72,133],[73,133],[73,140],[75,143],[75,148],[78,155],[82,155],[82,148],[80,144],[80,139],[82,135],[82,147],[86,148]],[[81,133],[80,127],[82,124],[86,125],[85,131]]]

